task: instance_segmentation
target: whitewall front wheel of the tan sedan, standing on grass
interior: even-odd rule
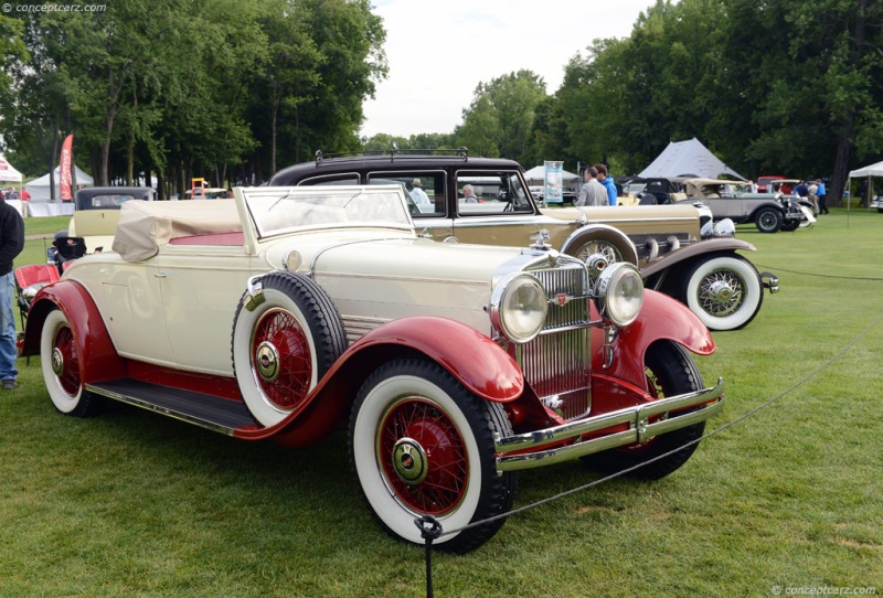
[[[690,268],[680,299],[709,329],[738,330],[757,316],[764,289],[744,257],[712,256]]]

